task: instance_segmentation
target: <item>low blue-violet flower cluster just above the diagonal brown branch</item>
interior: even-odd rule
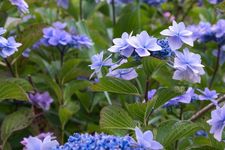
[[[218,102],[216,101],[216,99],[218,98],[218,93],[215,90],[209,90],[208,88],[205,88],[204,91],[200,89],[197,89],[197,91],[200,94],[196,94],[195,89],[189,87],[184,94],[172,98],[171,100],[166,102],[163,107],[178,106],[180,103],[189,104],[195,100],[200,101],[209,100],[214,105],[218,106]]]

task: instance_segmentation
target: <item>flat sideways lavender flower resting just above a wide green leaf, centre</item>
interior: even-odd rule
[[[115,69],[110,71],[106,76],[121,78],[124,80],[132,80],[137,78],[138,74],[134,68]]]

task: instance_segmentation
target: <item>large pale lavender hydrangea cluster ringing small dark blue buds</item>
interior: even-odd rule
[[[168,64],[175,69],[173,79],[199,83],[200,76],[205,74],[204,66],[201,64],[201,56],[190,52],[187,48],[183,50],[183,53],[178,51],[183,43],[193,46],[193,33],[186,29],[183,22],[173,21],[173,25],[169,29],[163,30],[161,34],[168,36],[168,38],[157,39],[146,31],[135,36],[125,32],[120,38],[113,39],[114,45],[108,49],[109,52],[119,55],[120,60],[112,63],[111,55],[103,60],[103,56],[97,54],[92,57],[91,69],[94,70],[95,74],[99,74],[101,68],[107,66],[110,67],[107,76],[131,80],[138,76],[135,68],[119,67],[127,63],[127,59],[130,57],[135,61],[140,61],[143,57],[152,56],[168,60]],[[98,61],[96,61],[97,59]],[[172,59],[174,62],[171,62]]]

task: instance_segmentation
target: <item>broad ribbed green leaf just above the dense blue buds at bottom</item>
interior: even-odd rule
[[[118,106],[106,106],[101,110],[101,129],[133,130],[135,126],[129,114]]]

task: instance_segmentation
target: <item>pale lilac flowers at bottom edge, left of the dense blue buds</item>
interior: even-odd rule
[[[50,150],[59,145],[51,133],[42,133],[36,137],[29,136],[21,141],[24,150]]]

